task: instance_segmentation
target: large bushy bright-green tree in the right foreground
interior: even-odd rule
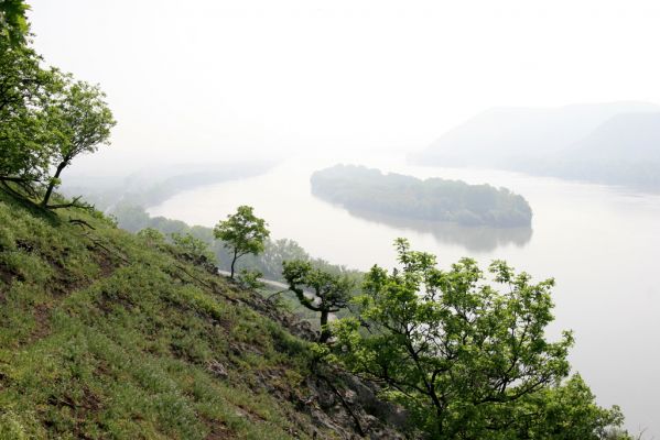
[[[573,337],[545,336],[553,279],[533,284],[496,261],[500,293],[474,260],[442,271],[434,255],[403,239],[396,245],[401,267],[366,275],[357,317],[334,327],[334,355],[381,383],[419,427],[436,439],[596,439],[620,424],[618,409],[596,407],[580,380],[560,385]],[[577,425],[565,426],[569,414]]]

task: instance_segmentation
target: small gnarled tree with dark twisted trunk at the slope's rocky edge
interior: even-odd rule
[[[321,312],[321,337],[318,342],[325,343],[332,336],[327,326],[329,314],[337,312],[348,306],[355,283],[345,274],[333,274],[312,267],[302,260],[284,262],[282,276],[289,289],[295,293],[300,304],[305,308]],[[314,297],[307,297],[303,287],[312,289]]]

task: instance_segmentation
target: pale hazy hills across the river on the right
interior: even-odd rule
[[[660,188],[660,107],[614,102],[500,108],[451,130],[410,160]]]

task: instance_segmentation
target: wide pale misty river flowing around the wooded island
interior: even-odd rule
[[[507,187],[530,202],[532,228],[459,228],[348,212],[310,188],[314,170],[338,162]],[[623,408],[631,432],[660,438],[660,196],[499,170],[409,166],[397,157],[296,157],[258,177],[180,193],[149,212],[212,227],[239,205],[253,206],[271,237],[354,268],[393,266],[392,241],[405,237],[444,267],[462,256],[484,267],[504,258],[534,279],[554,277],[556,320],[549,332],[574,331],[574,372],[599,404]]]

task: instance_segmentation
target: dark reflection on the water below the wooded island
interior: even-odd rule
[[[491,228],[491,227],[464,227],[457,223],[444,221],[429,221],[390,216],[374,211],[346,208],[350,216],[386,224],[401,230],[412,230],[422,233],[431,233],[439,243],[457,244],[470,252],[493,252],[499,246],[513,244],[518,248],[524,246],[532,238],[532,229],[520,228]]]

